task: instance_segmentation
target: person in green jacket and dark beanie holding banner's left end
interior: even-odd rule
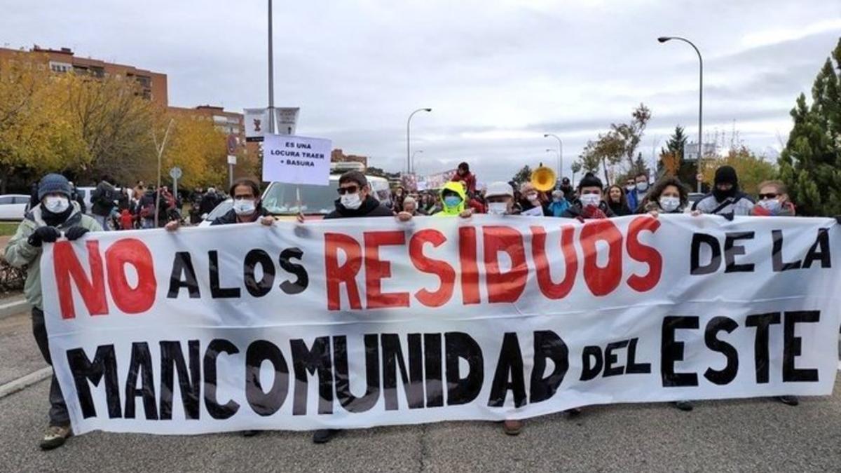
[[[97,221],[82,214],[77,204],[71,200],[72,188],[61,174],[47,174],[38,183],[39,204],[35,205],[20,222],[6,246],[4,258],[16,268],[26,267],[24,295],[32,305],[32,332],[35,343],[47,364],[50,360],[50,347],[44,323],[44,306],[41,299],[41,250],[45,242],[52,243],[61,237],[62,232],[68,240],[76,240],[87,231],[102,231]],[[55,449],[64,444],[71,435],[70,417],[61,387],[53,372],[50,380],[50,424],[40,442],[41,449]]]

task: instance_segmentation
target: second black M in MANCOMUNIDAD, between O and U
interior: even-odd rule
[[[292,365],[295,370],[295,390],[292,404],[294,416],[307,413],[307,373],[318,372],[318,413],[333,413],[333,364],[330,357],[330,337],[318,337],[313,348],[307,348],[304,340],[291,340]]]

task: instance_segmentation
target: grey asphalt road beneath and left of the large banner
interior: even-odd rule
[[[13,372],[11,360],[42,365],[32,359],[34,341],[20,335],[24,327],[29,334],[25,322],[21,315],[0,323],[0,356],[11,357],[0,359],[0,375]],[[833,396],[802,398],[799,407],[770,399],[699,402],[694,412],[663,404],[590,407],[574,419],[531,419],[519,437],[478,422],[347,431],[325,445],[296,432],[96,432],[41,452],[48,407],[42,381],[0,399],[0,470],[839,471],[841,379],[836,383]]]

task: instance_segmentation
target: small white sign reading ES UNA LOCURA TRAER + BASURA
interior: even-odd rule
[[[262,180],[327,185],[332,149],[332,141],[324,138],[266,135]]]

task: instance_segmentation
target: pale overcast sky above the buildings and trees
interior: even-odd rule
[[[0,44],[165,72],[171,105],[267,104],[267,2],[0,0]],[[331,138],[389,170],[405,168],[406,118],[421,173],[468,161],[479,181],[523,164],[564,167],[588,139],[644,103],[643,153],[674,125],[735,128],[780,148],[796,96],[841,36],[838,0],[309,0],[274,3],[275,101],[299,106],[298,132]],[[734,122],[735,120],[735,122]]]

